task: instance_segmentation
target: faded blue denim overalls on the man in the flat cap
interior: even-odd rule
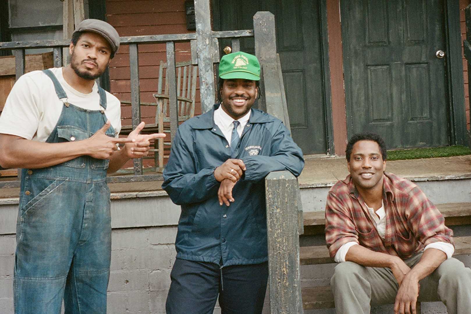
[[[80,141],[106,123],[106,94],[98,87],[102,110],[64,103],[47,143]],[[106,131],[114,137],[114,129]],[[23,169],[16,225],[14,305],[16,314],[105,314],[111,260],[109,160],[80,156],[56,166]]]

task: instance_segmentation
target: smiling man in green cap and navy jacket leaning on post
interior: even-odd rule
[[[264,178],[299,176],[304,161],[283,123],[252,105],[260,64],[244,52],[219,64],[219,104],[179,126],[162,188],[181,205],[167,314],[261,313],[268,253]]]

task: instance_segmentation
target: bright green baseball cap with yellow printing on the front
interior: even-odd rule
[[[219,62],[221,79],[245,79],[260,81],[260,63],[257,57],[245,52],[233,52]]]

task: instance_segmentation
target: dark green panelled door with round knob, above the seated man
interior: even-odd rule
[[[372,131],[389,148],[449,145],[444,2],[341,0],[349,136]]]

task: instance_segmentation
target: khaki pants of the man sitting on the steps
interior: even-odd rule
[[[404,262],[413,267],[422,253]],[[369,314],[371,305],[395,302],[399,285],[389,268],[365,267],[353,262],[335,266],[331,279],[337,314]],[[418,301],[442,301],[448,314],[469,314],[471,269],[456,258],[445,260],[420,281]]]

